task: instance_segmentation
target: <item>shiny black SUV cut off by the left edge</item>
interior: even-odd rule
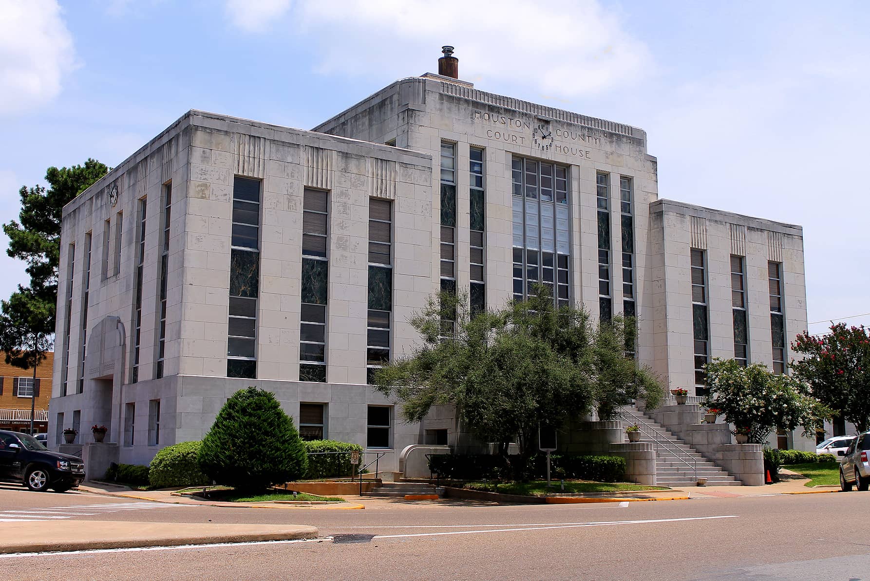
[[[0,430],[0,480],[37,492],[66,492],[84,480],[84,463],[70,454],[50,452],[26,433]]]

